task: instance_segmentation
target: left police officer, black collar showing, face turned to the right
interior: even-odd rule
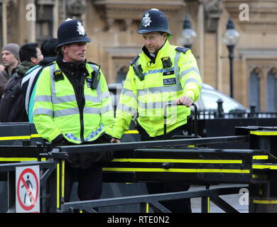
[[[36,85],[33,122],[38,133],[56,145],[109,143],[114,124],[112,102],[100,67],[87,62],[90,39],[77,20],[58,28],[58,57],[45,67]],[[80,200],[99,199],[102,166],[109,153],[69,155],[65,160],[65,201],[77,177]]]

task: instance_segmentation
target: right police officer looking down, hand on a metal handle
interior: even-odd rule
[[[191,50],[170,45],[172,36],[168,19],[158,9],[143,13],[138,33],[142,34],[142,52],[131,61],[129,72],[116,109],[112,143],[120,143],[129,130],[131,118],[138,115],[141,140],[164,140],[173,135],[184,135],[190,106],[201,92],[202,80]],[[167,134],[163,135],[163,111],[166,103],[178,106],[168,108]],[[165,193],[189,189],[180,182],[147,183],[148,192]],[[173,212],[191,212],[190,199],[163,201]]]

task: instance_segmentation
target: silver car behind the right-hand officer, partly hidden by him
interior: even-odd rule
[[[119,96],[122,90],[121,83],[114,83],[108,85],[109,92],[112,96],[112,104],[116,109],[116,104],[119,102]],[[250,110],[245,106],[240,104],[238,101],[232,99],[231,97],[217,91],[214,87],[209,84],[202,84],[202,91],[200,99],[196,101],[198,112],[214,112],[217,111],[217,101],[223,101],[222,108],[224,114],[230,113],[249,113]],[[193,108],[192,108],[193,110]]]

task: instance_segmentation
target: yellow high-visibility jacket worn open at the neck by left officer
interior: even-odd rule
[[[87,72],[83,85],[85,106],[76,99],[75,89],[56,62],[45,67],[36,84],[33,122],[38,133],[51,142],[58,135],[72,143],[96,140],[102,133],[112,135],[114,111],[107,82],[99,71],[97,89],[92,89],[92,72],[97,65],[86,63]]]

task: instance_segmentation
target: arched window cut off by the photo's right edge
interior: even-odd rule
[[[277,111],[277,79],[276,70],[272,69],[267,74],[266,111]]]

